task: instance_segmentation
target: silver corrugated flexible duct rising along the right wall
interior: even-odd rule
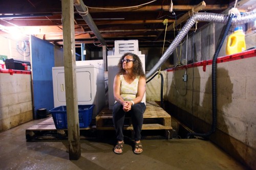
[[[241,16],[241,18],[233,18],[232,25],[243,24],[247,22],[251,22],[256,19],[256,12],[247,13]],[[164,52],[163,56],[159,59],[156,65],[146,74],[146,79],[150,78],[155,74],[156,71],[163,65],[163,63],[169,58],[170,55],[173,54],[176,47],[188,33],[191,27],[196,23],[196,21],[209,21],[209,22],[217,22],[217,23],[226,23],[228,20],[228,15],[224,14],[215,14],[215,13],[196,13],[191,16],[184,27],[181,29],[179,34],[176,36],[174,41],[169,45],[167,50]]]

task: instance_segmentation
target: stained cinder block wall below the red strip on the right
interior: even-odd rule
[[[229,147],[232,146],[248,166],[254,167],[256,76],[253,73],[256,71],[255,64],[256,57],[218,64],[217,129],[222,131],[230,141],[224,141],[225,139],[221,139],[219,134],[212,139],[214,142],[223,140],[217,142],[221,148],[225,148],[223,143],[229,143]],[[211,65],[206,66],[206,71],[203,71],[202,66],[188,68],[186,83],[181,79],[184,72],[185,70],[167,72],[168,96],[165,99],[210,126],[212,123]]]

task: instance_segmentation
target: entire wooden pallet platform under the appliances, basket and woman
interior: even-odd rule
[[[169,136],[173,129],[170,126],[170,115],[165,112],[157,103],[146,103],[146,111],[143,115],[143,118],[144,120],[142,130],[165,130],[166,137],[170,138]],[[125,119],[127,124],[124,125],[124,130],[133,131],[131,118],[127,117]],[[84,132],[83,130],[114,130],[112,110],[109,110],[108,108],[102,109],[102,111],[96,116],[96,126],[94,124],[88,128],[80,128],[80,134],[81,132]],[[48,119],[45,119],[44,121],[26,129],[26,139],[67,139],[67,131],[68,129],[56,129],[53,118],[50,116]]]

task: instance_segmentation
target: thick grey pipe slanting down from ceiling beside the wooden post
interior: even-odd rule
[[[83,1],[75,0],[74,6],[76,7],[77,12],[82,16],[82,18],[86,21],[87,25],[90,27],[92,32],[98,38],[102,45],[106,45],[105,40],[101,36],[97,26],[95,25],[86,5],[83,4]]]

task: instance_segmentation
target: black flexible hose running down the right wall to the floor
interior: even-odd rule
[[[217,127],[217,58],[220,53],[221,47],[223,45],[223,42],[228,34],[228,30],[231,26],[231,21],[233,18],[233,14],[230,14],[228,17],[228,21],[223,33],[223,36],[221,37],[221,40],[219,44],[217,45],[217,49],[214,54],[214,58],[212,59],[212,67],[211,67],[211,87],[212,87],[212,124],[211,129],[207,133],[188,133],[187,138],[190,136],[202,136],[202,137],[208,137],[210,134],[214,133],[216,131]]]

